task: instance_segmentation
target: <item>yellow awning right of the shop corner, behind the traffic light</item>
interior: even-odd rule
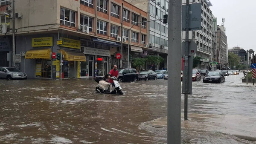
[[[62,52],[64,55],[64,60],[68,61],[86,61],[86,57],[82,52],[68,52],[64,49],[60,49],[59,52]]]

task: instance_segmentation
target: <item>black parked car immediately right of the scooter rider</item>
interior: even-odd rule
[[[134,68],[118,69],[119,82],[138,81],[139,73]]]

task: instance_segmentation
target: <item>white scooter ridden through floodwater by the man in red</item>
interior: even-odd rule
[[[111,79],[114,82],[114,86],[106,81],[99,81],[98,86],[96,87],[95,91],[99,93],[111,93],[115,95],[123,95],[122,87],[118,83],[118,79],[113,76]]]

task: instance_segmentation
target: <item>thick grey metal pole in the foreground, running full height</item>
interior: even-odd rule
[[[180,144],[181,0],[169,0],[167,143]]]

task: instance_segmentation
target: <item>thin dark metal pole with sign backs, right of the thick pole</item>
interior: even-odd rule
[[[186,36],[185,36],[185,71],[184,75],[189,75],[189,0],[186,0]],[[203,48],[204,52],[204,48]],[[204,66],[204,58],[203,58],[203,66]],[[203,67],[204,68],[204,67]],[[183,81],[186,81],[185,84],[185,92],[184,92],[184,120],[188,120],[188,77],[183,77]]]

